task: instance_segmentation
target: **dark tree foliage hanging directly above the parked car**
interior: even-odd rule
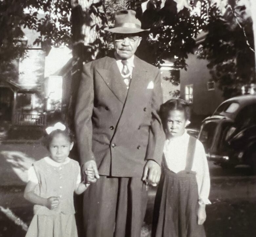
[[[197,54],[209,61],[212,79],[224,98],[241,94],[241,87],[255,83],[255,53],[252,20],[245,7],[227,5],[221,15],[216,4],[209,10],[208,32]]]

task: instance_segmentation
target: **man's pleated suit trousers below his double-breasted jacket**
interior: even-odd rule
[[[140,237],[146,206],[141,178],[100,176],[84,194],[84,236]]]

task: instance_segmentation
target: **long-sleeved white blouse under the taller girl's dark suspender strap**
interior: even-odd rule
[[[168,168],[178,173],[186,167],[187,149],[189,135],[185,132],[183,135],[167,139],[164,144],[164,156]],[[203,144],[197,140],[192,165],[192,171],[196,172],[196,180],[198,185],[199,204],[210,204],[210,176],[207,158],[203,148]]]

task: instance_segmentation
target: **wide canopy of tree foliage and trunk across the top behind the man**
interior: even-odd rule
[[[72,48],[72,75],[79,74],[83,62],[103,57],[112,48],[104,28],[113,25],[116,11],[128,8],[136,10],[142,27],[150,28],[138,55],[156,66],[170,59],[174,67],[186,70],[198,34],[208,32],[197,53],[209,60],[213,80],[229,97],[255,80],[252,22],[239,1],[228,0],[223,14],[210,0],[184,0],[179,10],[173,0],[150,0],[144,12],[145,0],[1,0],[0,70],[24,54],[22,29],[28,27],[40,32],[34,44],[46,51],[60,45]],[[179,77],[172,78],[172,83],[179,82]]]

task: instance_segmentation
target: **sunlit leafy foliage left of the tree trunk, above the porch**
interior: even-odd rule
[[[24,56],[23,28],[40,32],[34,44],[46,51],[51,45],[71,46],[69,1],[2,0],[0,1],[0,70],[11,67],[12,61]],[[40,11],[43,14],[38,14]],[[43,17],[40,18],[40,15]]]

